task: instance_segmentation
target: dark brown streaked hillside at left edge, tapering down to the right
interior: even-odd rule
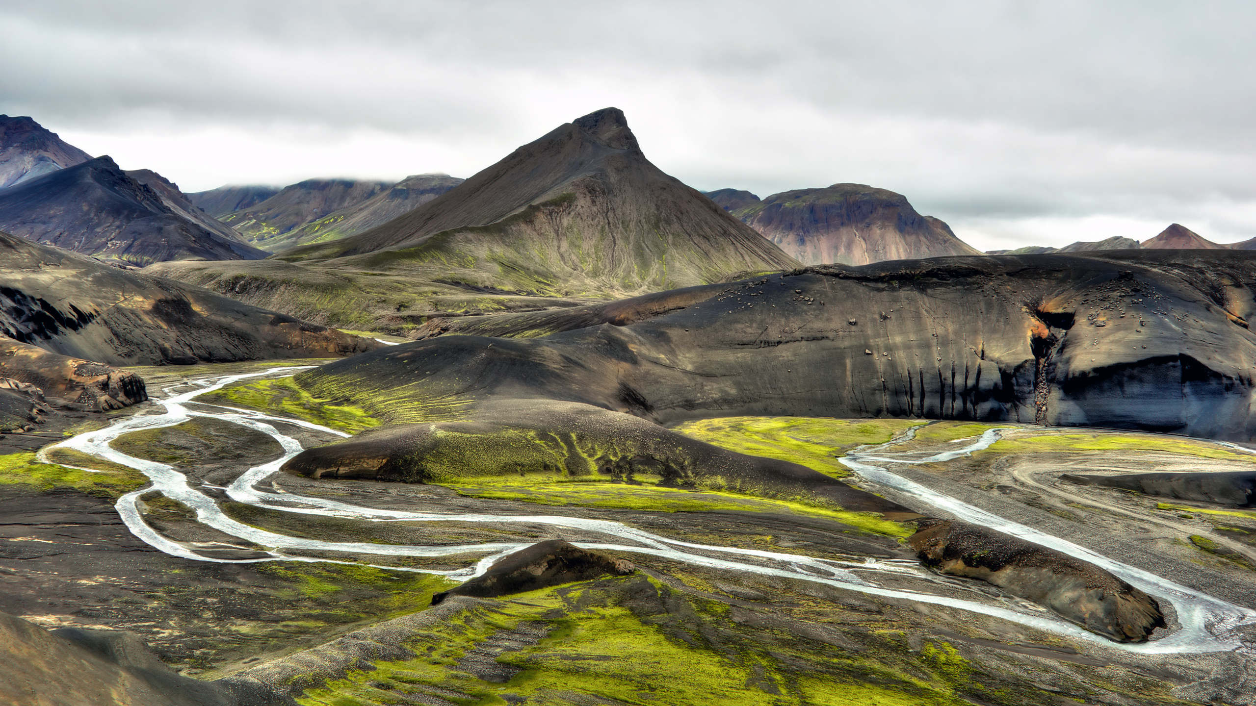
[[[31,347],[67,359],[137,366],[350,356],[381,345],[3,232],[0,283],[0,340],[10,342],[8,350],[18,352],[6,361],[26,361],[24,367],[35,364],[30,362],[34,358],[28,361],[28,354],[34,354]],[[78,369],[78,363],[60,361],[51,367]],[[49,387],[48,381],[69,379],[55,374],[40,382],[16,371],[3,374],[38,384],[50,394],[59,383]],[[103,397],[97,394],[104,406],[107,398],[116,398],[112,391],[119,382],[124,381],[104,386],[111,392],[102,392]]]

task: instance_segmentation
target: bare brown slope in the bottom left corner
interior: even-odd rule
[[[46,631],[0,613],[0,702],[40,706],[295,706],[260,682],[175,673],[136,634]]]

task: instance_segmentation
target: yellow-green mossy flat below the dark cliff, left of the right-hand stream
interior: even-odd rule
[[[918,420],[826,417],[718,417],[679,423],[673,431],[746,453],[808,466],[833,477],[850,475],[838,457],[864,443],[885,443]]]

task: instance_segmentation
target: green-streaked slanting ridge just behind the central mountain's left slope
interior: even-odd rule
[[[360,204],[333,211],[330,215],[296,227],[266,241],[266,247],[281,253],[299,245],[328,242],[371,230],[427,204],[466,180],[450,175],[414,175],[394,183],[392,188]]]

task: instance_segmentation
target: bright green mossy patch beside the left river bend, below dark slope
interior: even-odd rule
[[[240,382],[197,396],[196,401],[290,415],[348,433],[379,425],[377,418],[348,398],[314,394],[290,377]]]

